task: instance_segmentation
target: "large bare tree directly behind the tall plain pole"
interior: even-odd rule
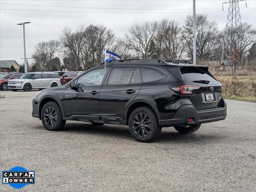
[[[188,15],[184,28],[184,39],[186,40],[187,54],[193,58],[193,17]],[[197,58],[199,60],[209,60],[213,58],[213,48],[217,38],[217,23],[209,22],[206,14],[196,15],[196,43]]]

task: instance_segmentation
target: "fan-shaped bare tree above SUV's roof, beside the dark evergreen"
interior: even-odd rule
[[[131,49],[139,54],[139,57],[148,58],[148,48],[156,30],[157,22],[135,23],[129,28],[125,38]]]

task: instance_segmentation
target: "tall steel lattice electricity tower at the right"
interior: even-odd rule
[[[229,59],[229,54],[234,46],[236,46],[236,49],[240,50],[238,45],[239,37],[242,33],[242,22],[238,4],[240,1],[244,0],[225,0],[225,2],[223,2],[223,4],[229,4],[221,55],[221,63],[224,63],[225,65],[232,65],[232,62]]]

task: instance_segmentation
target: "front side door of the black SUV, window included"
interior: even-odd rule
[[[91,70],[75,80],[76,87],[67,86],[63,95],[63,106],[66,117],[82,119],[99,119],[99,95],[107,70]],[[90,76],[99,74],[98,79]]]

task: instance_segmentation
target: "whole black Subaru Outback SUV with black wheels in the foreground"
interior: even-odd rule
[[[32,116],[54,131],[66,120],[129,125],[140,142],[158,138],[162,127],[186,134],[226,118],[222,84],[206,66],[140,59],[113,60],[106,67],[100,64],[64,86],[38,92]]]

